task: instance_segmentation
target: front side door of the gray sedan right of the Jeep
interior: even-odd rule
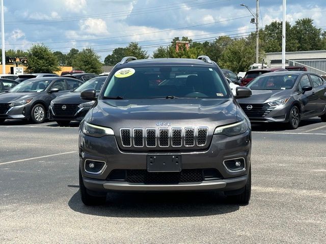
[[[303,86],[312,86],[308,75],[303,75],[298,83],[298,91],[301,102],[301,114],[303,117],[311,116],[312,114],[316,114],[316,102],[317,96],[314,92],[314,89],[308,90],[307,92],[303,92]]]

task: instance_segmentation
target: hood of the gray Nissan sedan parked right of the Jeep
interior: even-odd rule
[[[249,98],[238,99],[238,103],[269,103],[292,95],[292,90],[252,90]]]

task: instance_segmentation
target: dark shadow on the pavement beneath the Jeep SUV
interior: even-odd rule
[[[109,193],[105,205],[85,206],[79,191],[68,202],[82,214],[118,218],[167,218],[223,215],[239,209],[223,194],[192,193]]]

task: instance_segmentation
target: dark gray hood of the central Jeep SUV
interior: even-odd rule
[[[233,99],[100,100],[92,111],[94,125],[120,128],[219,126],[237,121]]]

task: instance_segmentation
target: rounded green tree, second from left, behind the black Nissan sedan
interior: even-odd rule
[[[79,52],[76,55],[72,65],[76,70],[84,70],[87,73],[99,74],[102,72],[100,56],[97,55],[91,48],[86,48]]]

